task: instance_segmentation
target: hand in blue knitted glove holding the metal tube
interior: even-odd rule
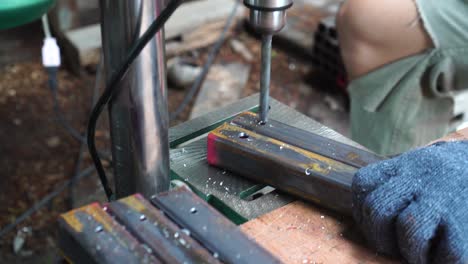
[[[353,214],[379,252],[409,263],[468,263],[468,141],[362,168]]]

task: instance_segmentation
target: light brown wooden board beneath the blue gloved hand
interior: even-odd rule
[[[468,139],[468,129],[441,140]],[[398,263],[366,248],[349,217],[296,201],[242,230],[285,263]]]

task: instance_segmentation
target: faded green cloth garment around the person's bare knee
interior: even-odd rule
[[[457,93],[468,88],[468,3],[416,0],[435,48],[351,82],[351,135],[382,155],[451,132]]]

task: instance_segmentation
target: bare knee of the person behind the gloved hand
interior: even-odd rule
[[[433,47],[414,0],[347,0],[337,26],[351,80]]]

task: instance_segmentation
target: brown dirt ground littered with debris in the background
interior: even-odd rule
[[[248,96],[258,92],[259,42],[243,31],[231,37],[242,41],[254,55],[243,93]],[[41,42],[34,36],[31,41],[38,45]],[[15,50],[14,47],[10,49],[11,52]],[[201,65],[207,49],[197,53],[199,55],[195,58]],[[284,49],[274,50],[271,96],[346,135],[349,121],[345,96],[332,92],[331,84],[318,85],[318,73],[314,72],[309,61],[289,54]],[[47,76],[39,57],[26,56],[17,62],[10,58],[3,61],[8,63],[0,64],[0,229],[70,179],[80,145],[57,123]],[[217,63],[234,61],[248,63],[225,42]],[[58,75],[60,105],[67,120],[81,132],[85,129],[89,113],[94,78],[95,69],[84,69],[81,76],[75,76],[62,68]],[[184,90],[169,90],[170,110],[178,106],[184,95]],[[187,108],[172,125],[183,122],[189,113],[190,108]],[[102,119],[97,138],[100,148],[108,149],[106,118]],[[82,168],[90,164],[86,154]],[[85,181],[96,183],[97,177],[92,175]],[[0,262],[58,261],[56,218],[69,209],[70,190],[66,190],[13,231],[0,237]],[[24,234],[21,230],[25,227],[31,232]],[[13,241],[22,232],[26,242],[14,254]]]

